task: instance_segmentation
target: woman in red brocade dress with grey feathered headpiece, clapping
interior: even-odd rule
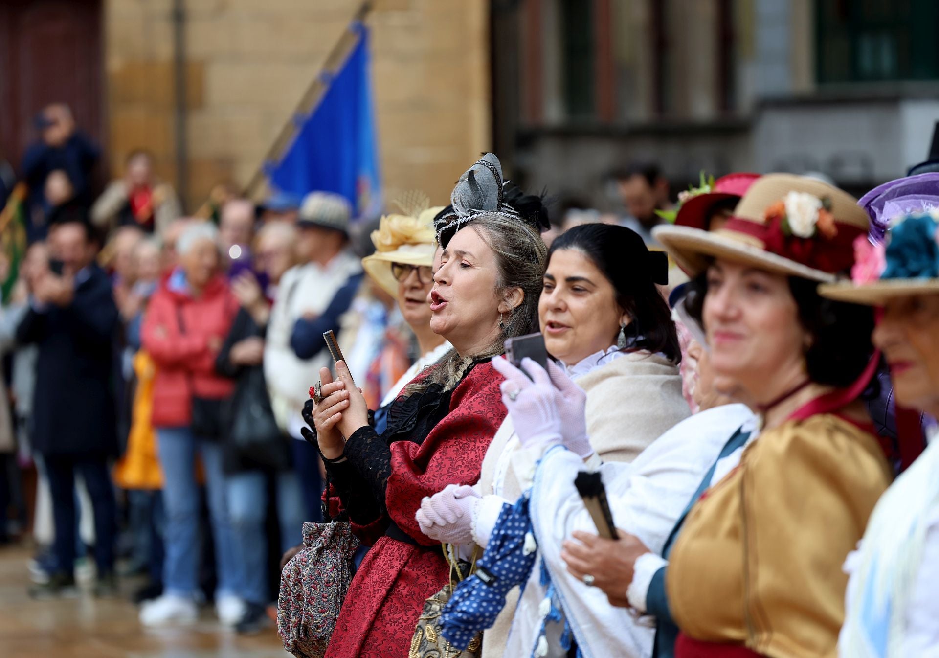
[[[457,184],[456,210],[445,209],[435,222],[443,251],[429,296],[431,329],[454,350],[408,385],[381,436],[368,424],[345,363],[336,364],[335,382],[320,371],[322,398],[312,410],[331,493],[363,543],[374,544],[326,658],[407,655],[424,601],[449,582],[439,543],[423,535],[414,514],[423,497],[447,484],[479,479],[506,413],[501,376],[489,360],[506,338],[537,330],[546,247],[537,222],[522,218],[544,222],[546,215],[523,206],[540,208],[536,197],[510,206],[503,192],[512,193],[502,189],[499,161],[487,154]]]

